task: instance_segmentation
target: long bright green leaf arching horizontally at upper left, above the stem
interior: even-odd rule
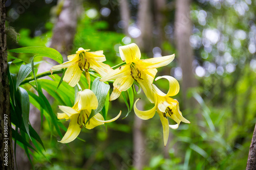
[[[55,61],[57,61],[59,64],[63,63],[63,58],[61,54],[50,47],[44,47],[44,46],[28,46],[28,47],[22,47],[22,48],[16,48],[13,50],[8,50],[9,52],[14,53],[34,53],[38,54],[36,56],[41,57],[49,57]]]

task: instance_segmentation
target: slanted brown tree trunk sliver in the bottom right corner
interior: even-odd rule
[[[256,170],[256,124],[251,139],[246,170]]]

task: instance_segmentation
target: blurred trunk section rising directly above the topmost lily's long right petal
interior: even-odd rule
[[[140,51],[146,53],[149,57],[153,57],[153,19],[151,2],[150,0],[140,0],[138,7],[138,26],[141,35],[137,38],[137,44],[140,47]]]

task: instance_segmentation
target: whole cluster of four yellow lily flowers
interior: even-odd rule
[[[92,129],[104,123],[113,122],[121,114],[120,111],[120,113],[111,120],[104,120],[100,113],[90,117],[92,109],[96,109],[98,106],[98,100],[95,94],[90,90],[90,68],[101,76],[101,82],[114,80],[114,89],[111,93],[110,101],[117,99],[122,91],[129,89],[135,82],[140,85],[147,99],[151,103],[154,103],[155,106],[150,110],[140,111],[136,107],[138,99],[134,104],[134,112],[141,119],[152,118],[155,112],[159,114],[163,126],[164,145],[167,143],[169,127],[177,129],[180,122],[189,123],[189,121],[182,116],[178,101],[170,98],[170,96],[174,96],[179,92],[180,87],[178,81],[170,76],[162,76],[155,79],[157,73],[156,68],[172,62],[175,57],[174,54],[141,60],[139,47],[135,43],[119,46],[120,57],[125,61],[125,64],[113,70],[109,65],[102,63],[106,60],[103,51],[88,51],[89,50],[84,50],[80,47],[76,54],[68,56],[69,61],[51,68],[51,70],[68,68],[63,77],[63,81],[69,83],[72,87],[79,82],[81,74],[84,71],[89,85],[89,89],[78,92],[75,105],[72,108],[59,106],[59,109],[64,113],[58,113],[58,118],[70,119],[68,131],[60,142],[68,143],[73,141],[80,133],[82,126],[87,129]],[[153,84],[154,79],[157,81],[161,78],[165,78],[169,81],[167,94],[163,93]],[[169,125],[167,117],[175,120],[177,124]]]

